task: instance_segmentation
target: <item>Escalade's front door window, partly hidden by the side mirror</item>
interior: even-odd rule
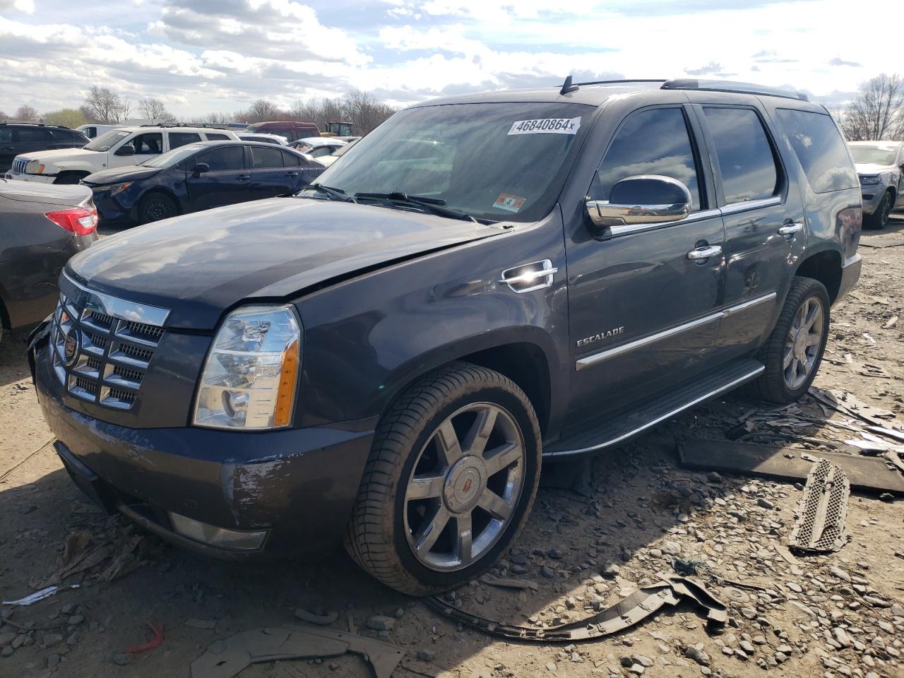
[[[698,169],[681,108],[650,108],[627,118],[599,165],[589,197],[608,200],[612,186],[637,174],[677,179],[690,190],[692,209],[700,209]]]

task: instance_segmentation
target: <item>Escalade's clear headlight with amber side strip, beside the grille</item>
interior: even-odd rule
[[[226,316],[204,363],[194,425],[280,428],[292,421],[301,332],[292,306],[245,306]]]

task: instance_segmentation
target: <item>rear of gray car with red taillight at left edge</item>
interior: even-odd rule
[[[86,186],[0,179],[0,338],[52,313],[62,267],[98,239],[97,225]]]

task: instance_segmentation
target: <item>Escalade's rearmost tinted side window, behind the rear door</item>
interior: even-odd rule
[[[816,193],[858,188],[860,181],[838,127],[828,115],[791,108],[777,109],[806,179]]]

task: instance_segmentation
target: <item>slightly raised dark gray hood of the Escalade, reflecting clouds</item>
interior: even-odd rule
[[[157,221],[96,242],[66,269],[82,284],[212,329],[243,300],[275,301],[393,260],[504,232],[374,205],[271,198]]]

